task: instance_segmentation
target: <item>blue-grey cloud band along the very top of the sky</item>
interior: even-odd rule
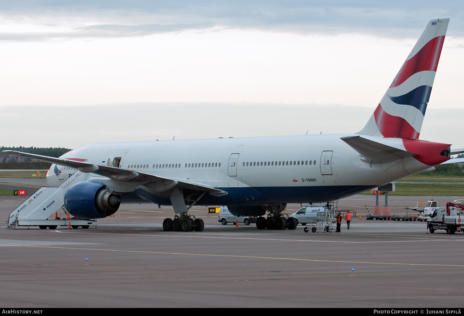
[[[40,24],[49,32],[0,32],[0,40],[139,37],[216,27],[298,33],[361,32],[417,37],[429,19],[451,18],[451,36],[464,36],[461,1],[9,1],[4,25]]]

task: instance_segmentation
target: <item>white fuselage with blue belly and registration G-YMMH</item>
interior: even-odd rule
[[[115,167],[221,188],[229,194],[214,201],[225,205],[334,200],[428,168],[413,157],[383,164],[363,162],[342,136],[347,134],[100,143],[71,150],[61,158],[111,165],[120,157]],[[328,152],[330,157],[324,158]],[[228,168],[231,155],[237,157],[232,166],[236,170]],[[327,159],[329,166],[324,166]],[[48,186],[58,186],[67,178],[68,172],[60,180],[53,170],[55,165],[47,174]],[[199,204],[211,202],[204,199]]]

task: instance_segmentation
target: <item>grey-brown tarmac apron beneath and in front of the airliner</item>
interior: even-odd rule
[[[390,196],[391,213],[406,214],[404,206],[430,198],[464,201]],[[0,197],[0,217],[6,220],[24,199]],[[464,233],[427,234],[418,221],[365,220],[364,204],[374,203],[372,195],[340,200],[339,209],[359,212],[341,233],[223,226],[205,206],[189,212],[205,221],[203,232],[163,232],[162,220],[174,212],[151,204],[123,204],[97,229],[1,228],[0,304],[462,307]],[[288,205],[286,213],[298,208]]]

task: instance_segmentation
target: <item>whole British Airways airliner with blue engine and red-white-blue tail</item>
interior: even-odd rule
[[[419,140],[449,19],[433,19],[366,126],[354,134],[99,143],[60,158],[5,150],[52,163],[58,187],[75,173],[62,205],[79,219],[104,218],[120,203],[172,205],[165,231],[202,231],[193,205],[226,205],[262,216],[259,229],[295,229],[287,203],[328,202],[384,185],[450,159],[450,144]],[[77,171],[79,170],[79,171]],[[55,202],[53,200],[53,202]],[[45,206],[44,206],[45,210]]]

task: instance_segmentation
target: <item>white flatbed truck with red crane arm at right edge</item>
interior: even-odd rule
[[[445,230],[448,234],[455,232],[464,232],[462,221],[464,220],[463,212],[458,212],[457,209],[464,210],[464,204],[453,202],[446,203],[446,207],[438,207],[427,219],[427,228],[433,233],[438,229]]]

